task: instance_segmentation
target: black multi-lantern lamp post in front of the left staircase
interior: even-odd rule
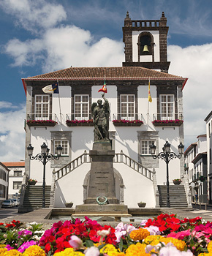
[[[61,157],[61,151],[63,150],[63,148],[61,147],[61,145],[59,145],[56,150],[57,150],[57,156],[53,156],[53,154],[49,153],[49,148],[48,146],[45,144],[45,142],[42,144],[41,146],[41,153],[37,154],[35,157],[32,156],[33,154],[33,149],[34,147],[31,146],[31,144],[29,144],[29,146],[27,147],[27,151],[28,151],[28,155],[29,155],[29,159],[31,160],[39,160],[40,162],[42,162],[43,164],[43,179],[42,179],[42,208],[45,208],[45,165],[48,161],[50,160],[58,160]]]

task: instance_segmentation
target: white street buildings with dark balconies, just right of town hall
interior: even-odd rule
[[[197,192],[200,203],[208,203],[207,188],[207,141],[206,135],[197,136],[197,142],[192,143],[184,153],[185,170],[189,177],[192,191],[192,201]]]

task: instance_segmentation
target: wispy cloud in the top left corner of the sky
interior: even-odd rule
[[[15,17],[15,23],[33,33],[56,26],[67,18],[61,4],[49,4],[45,0],[0,0],[0,7]]]

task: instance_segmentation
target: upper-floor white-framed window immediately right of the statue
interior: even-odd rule
[[[121,94],[121,119],[135,119],[135,94]]]

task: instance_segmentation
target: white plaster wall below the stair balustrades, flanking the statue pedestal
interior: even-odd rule
[[[116,170],[124,181],[124,204],[129,208],[137,208],[137,203],[143,201],[147,207],[155,207],[153,183],[140,173],[122,163],[114,163]],[[64,207],[64,203],[72,201],[74,208],[83,204],[83,181],[91,168],[91,164],[83,164],[64,178],[56,181],[54,207]]]

